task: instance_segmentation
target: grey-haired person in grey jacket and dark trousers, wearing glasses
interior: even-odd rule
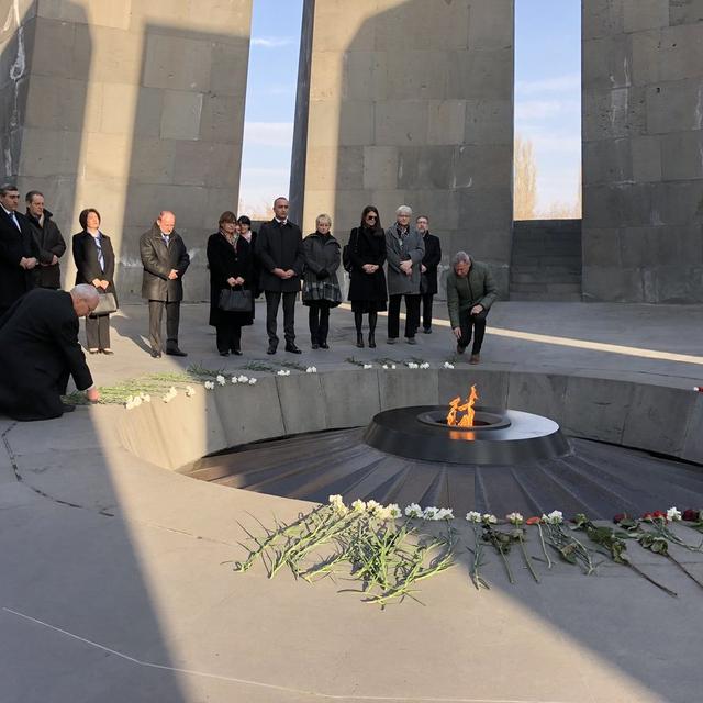
[[[425,255],[422,235],[410,223],[413,211],[401,205],[395,224],[386,230],[388,261],[388,344],[395,344],[400,332],[400,303],[405,298],[405,339],[417,344],[420,327],[420,266]]]

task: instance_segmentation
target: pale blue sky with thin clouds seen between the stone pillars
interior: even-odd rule
[[[577,198],[580,7],[581,0],[515,0],[515,132],[533,142],[537,208],[543,212],[553,203],[572,204]],[[302,0],[254,0],[239,193],[243,213],[260,212],[276,196],[288,193],[301,22]]]

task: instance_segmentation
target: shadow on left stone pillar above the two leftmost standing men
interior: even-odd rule
[[[65,286],[74,283],[70,235],[77,230],[76,190],[86,124],[92,38],[85,9],[62,3],[63,21],[23,16],[19,3],[0,3],[0,180],[16,181],[24,194],[40,190],[68,245],[60,259]]]

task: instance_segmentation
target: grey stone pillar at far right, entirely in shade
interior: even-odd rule
[[[698,0],[583,2],[583,294],[703,301]]]

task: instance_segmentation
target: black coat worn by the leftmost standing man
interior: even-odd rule
[[[23,269],[20,259],[23,256],[40,258],[40,247],[30,223],[22,213],[14,214],[20,230],[0,207],[0,312],[34,288],[34,271]]]

